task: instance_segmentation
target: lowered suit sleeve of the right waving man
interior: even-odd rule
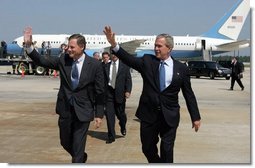
[[[198,110],[195,94],[191,88],[190,76],[188,74],[189,74],[188,68],[184,67],[182,93],[186,101],[186,105],[187,105],[191,120],[193,122],[193,121],[200,120],[201,117]]]

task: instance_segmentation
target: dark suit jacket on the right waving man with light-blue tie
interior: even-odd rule
[[[169,126],[177,127],[180,121],[180,106],[178,93],[182,89],[192,121],[200,119],[195,95],[191,88],[187,67],[179,61],[173,60],[173,79],[171,84],[160,92],[159,63],[154,55],[145,54],[136,58],[128,54],[121,47],[117,53],[123,63],[141,73],[143,90],[140,97],[136,116],[145,122],[154,123],[158,118],[160,108]]]

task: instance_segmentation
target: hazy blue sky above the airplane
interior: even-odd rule
[[[252,1],[252,0],[251,0]],[[34,34],[201,35],[237,0],[1,0],[0,40],[11,42],[26,26]],[[250,39],[249,15],[239,39]],[[240,55],[250,49],[240,50]]]

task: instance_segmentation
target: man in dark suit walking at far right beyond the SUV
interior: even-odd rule
[[[241,78],[243,78],[243,68],[242,68],[241,63],[237,60],[236,57],[232,58],[231,69],[232,69],[232,73],[231,73],[230,90],[234,89],[234,85],[235,85],[235,81],[236,81],[238,83],[238,85],[241,87],[241,90],[243,91],[244,86],[241,81]]]

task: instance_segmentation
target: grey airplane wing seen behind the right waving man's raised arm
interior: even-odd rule
[[[134,55],[136,49],[146,40],[140,39],[140,40],[132,40],[128,42],[123,42],[119,44],[122,48],[124,48],[129,54]],[[109,51],[110,47],[104,48],[104,51]]]

